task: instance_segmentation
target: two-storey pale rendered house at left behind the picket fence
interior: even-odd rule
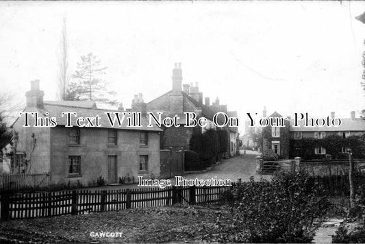
[[[35,127],[29,116],[29,127],[24,127],[25,114],[14,124],[13,172],[51,172],[51,184],[92,185],[99,177],[108,184],[119,178],[146,178],[160,175],[160,127],[147,127],[149,121],[142,114],[141,127],[112,126],[105,112],[92,101],[43,101],[39,81],[31,82],[23,112],[37,112],[38,123],[55,118],[55,127]],[[77,117],[96,117],[99,127],[79,127],[71,116],[72,127],[62,112],[76,112]],[[94,122],[95,123],[95,122]],[[85,123],[84,123],[85,125]]]

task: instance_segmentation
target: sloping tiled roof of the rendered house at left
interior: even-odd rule
[[[40,110],[40,112],[49,112],[48,117],[55,117],[58,125],[66,125],[66,115],[62,117],[62,112],[76,112],[77,117],[95,117],[99,115],[100,117],[100,127],[104,128],[112,128],[112,125],[110,125],[109,120],[105,112],[121,112],[117,110],[101,110],[101,109],[93,109],[93,108],[80,108],[75,106],[60,106],[60,105],[53,105],[49,103],[44,104],[44,108]],[[122,114],[121,114],[122,116]],[[72,117],[72,125],[76,125],[76,117],[73,115]],[[114,117],[114,114],[111,114],[111,117]],[[116,129],[122,129],[122,130],[148,130],[148,131],[156,131],[160,132],[162,131],[160,127],[154,125],[153,127],[147,127],[149,124],[149,121],[146,117],[142,117],[141,124],[142,127],[127,127],[127,117],[131,117],[131,115],[126,115],[122,126],[119,127],[118,123],[115,123],[113,128]]]

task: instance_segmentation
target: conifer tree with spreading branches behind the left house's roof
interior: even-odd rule
[[[102,79],[107,67],[101,66],[101,60],[92,53],[81,56],[77,70],[72,75],[73,82],[68,84],[66,99],[80,101],[101,101],[116,105],[116,93],[107,89],[107,82]]]

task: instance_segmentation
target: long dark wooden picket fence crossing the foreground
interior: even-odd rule
[[[136,188],[110,191],[59,191],[49,193],[3,194],[0,219],[24,219],[88,212],[113,211],[181,204],[205,204],[221,201],[231,186]]]

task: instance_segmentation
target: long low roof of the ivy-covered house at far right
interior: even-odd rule
[[[299,121],[298,127],[294,127],[294,119],[290,119],[290,131],[292,132],[365,132],[365,121],[363,119],[340,119],[339,127],[323,126],[323,127],[305,127],[305,121]]]

